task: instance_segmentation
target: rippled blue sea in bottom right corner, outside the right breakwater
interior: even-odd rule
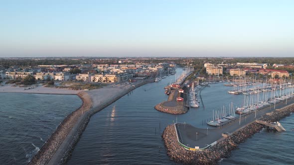
[[[293,165],[294,114],[280,121],[286,132],[262,130],[241,143],[221,165]]]

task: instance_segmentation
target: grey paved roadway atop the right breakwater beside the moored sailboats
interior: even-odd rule
[[[294,103],[294,98],[287,101],[287,105]],[[283,101],[276,104],[276,109],[280,109],[286,106]],[[177,131],[179,132],[182,144],[194,148],[198,146],[199,148],[204,148],[207,145],[222,138],[222,133],[229,132],[233,133],[237,129],[254,122],[256,119],[265,115],[266,113],[272,112],[274,110],[274,105],[268,106],[262,110],[257,111],[257,116],[255,118],[255,113],[251,113],[241,117],[241,124],[239,125],[239,118],[236,117],[235,121],[232,121],[224,126],[211,128],[208,126],[207,129],[195,128],[189,124],[178,124]],[[208,135],[207,135],[208,132]],[[196,134],[197,133],[197,134]]]

